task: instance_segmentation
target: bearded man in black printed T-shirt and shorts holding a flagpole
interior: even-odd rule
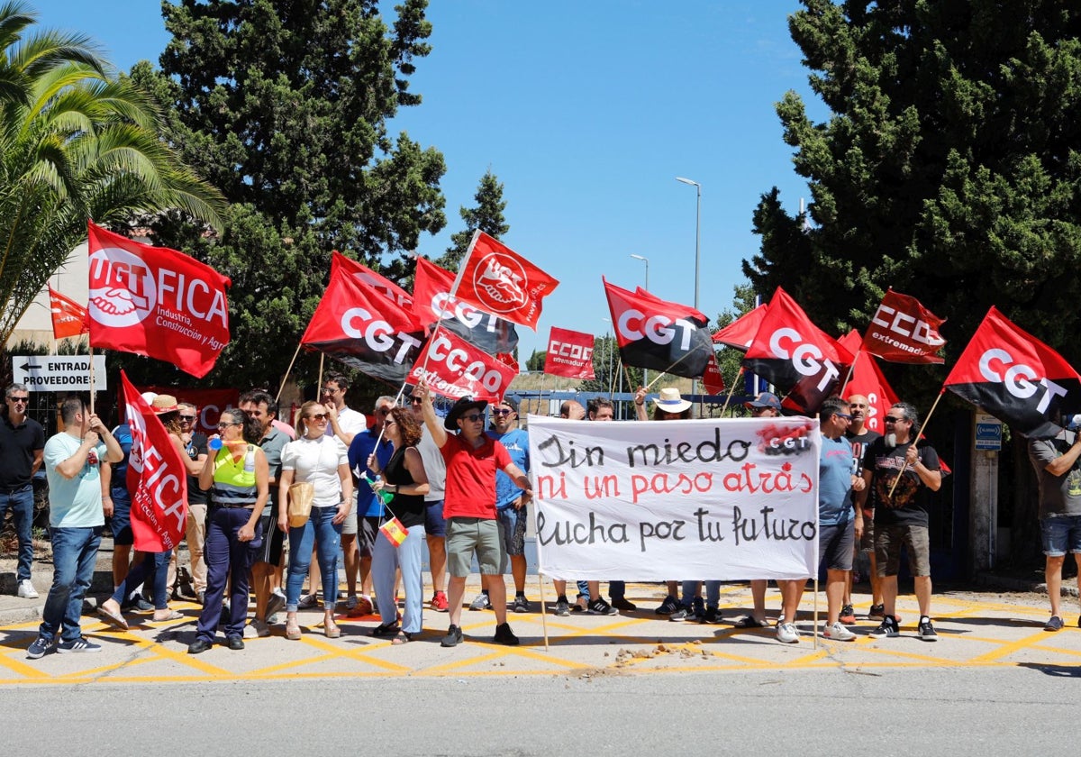
[[[875,509],[875,558],[884,606],[882,624],[871,632],[871,637],[894,637],[900,633],[897,573],[904,546],[920,606],[917,635],[924,641],[937,641],[938,634],[931,623],[927,514],[931,492],[938,491],[943,482],[938,453],[931,444],[918,441],[919,416],[908,402],[894,404],[883,421],[885,436],[872,441],[864,456],[864,481]]]

